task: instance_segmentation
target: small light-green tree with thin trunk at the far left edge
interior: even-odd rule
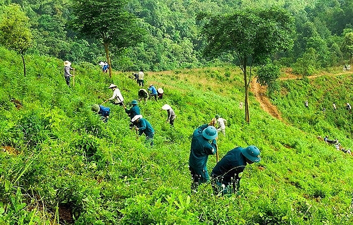
[[[21,55],[23,74],[26,76],[24,55],[32,45],[32,33],[29,18],[19,5],[11,4],[4,8],[0,18],[0,43]]]

